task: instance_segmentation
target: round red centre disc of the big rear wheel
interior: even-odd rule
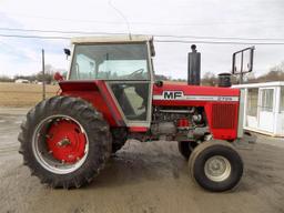
[[[57,121],[51,124],[48,135],[49,153],[62,163],[74,163],[84,155],[87,139],[73,121]]]

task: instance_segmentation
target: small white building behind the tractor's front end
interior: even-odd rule
[[[233,85],[245,92],[244,129],[284,136],[284,81]]]

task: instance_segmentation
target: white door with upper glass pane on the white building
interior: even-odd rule
[[[258,129],[265,132],[274,130],[274,88],[260,88]]]

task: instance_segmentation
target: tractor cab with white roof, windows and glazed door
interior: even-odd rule
[[[75,38],[69,81],[103,80],[128,126],[149,126],[152,37]]]

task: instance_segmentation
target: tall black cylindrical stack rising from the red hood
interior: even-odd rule
[[[196,45],[191,45],[192,52],[187,58],[187,84],[200,85],[201,75],[201,53],[196,51]]]

